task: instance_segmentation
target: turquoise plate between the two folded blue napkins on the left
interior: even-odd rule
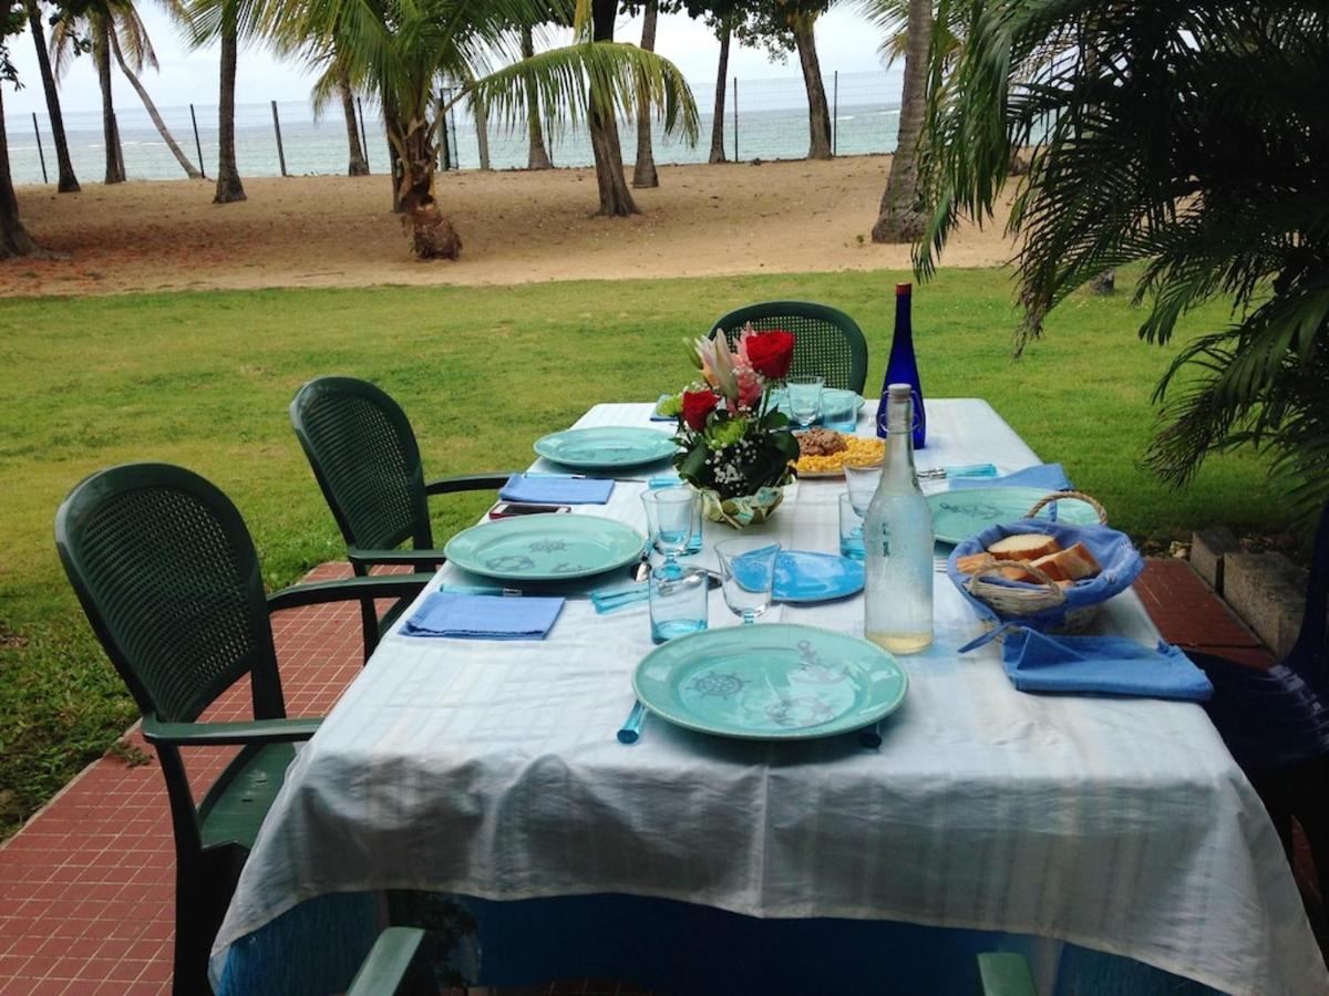
[[[502,580],[587,578],[633,563],[646,538],[599,515],[521,515],[462,530],[443,548],[457,567]]]

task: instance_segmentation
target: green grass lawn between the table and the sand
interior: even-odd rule
[[[902,274],[565,283],[502,288],[259,291],[0,303],[0,833],[100,754],[134,717],[94,645],[52,544],[52,517],[85,474],[161,459],[237,502],[272,586],[338,558],[340,540],[291,433],[307,378],[380,384],[415,424],[427,473],[521,466],[542,433],[589,405],[642,401],[690,376],[680,340],[731,307],[805,297],[868,335],[880,384]],[[1263,462],[1212,461],[1171,493],[1139,469],[1150,394],[1174,349],[1139,343],[1128,293],[1076,297],[1045,341],[1010,359],[1005,271],[944,272],[914,296],[929,396],[982,396],[1046,459],[1062,461],[1136,537],[1212,522],[1284,523]],[[1221,323],[1212,309],[1188,335]],[[440,542],[484,498],[439,503]]]

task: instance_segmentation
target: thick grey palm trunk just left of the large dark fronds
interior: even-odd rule
[[[900,137],[890,175],[881,195],[873,242],[914,242],[926,215],[918,203],[918,135],[928,101],[928,48],[932,41],[932,0],[909,0],[905,42],[905,85],[900,94]]]

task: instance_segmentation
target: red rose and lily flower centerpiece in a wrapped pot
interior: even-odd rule
[[[799,458],[789,420],[771,405],[771,386],[789,372],[793,333],[748,324],[735,349],[718,332],[698,339],[690,359],[702,377],[680,398],[674,466],[700,493],[708,519],[736,529],[763,522]]]

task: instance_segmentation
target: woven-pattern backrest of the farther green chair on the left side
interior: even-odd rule
[[[291,425],[348,546],[433,546],[420,448],[401,406],[368,381],[318,377]]]

